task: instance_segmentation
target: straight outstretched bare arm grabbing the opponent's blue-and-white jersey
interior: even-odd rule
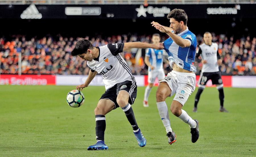
[[[159,42],[157,44],[148,44],[144,42],[126,42],[123,46],[123,51],[129,50],[131,48],[153,48],[157,50],[164,49],[164,44]]]

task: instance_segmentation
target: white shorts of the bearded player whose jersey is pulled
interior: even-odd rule
[[[172,70],[159,82],[166,82],[172,90],[170,96],[176,93],[173,100],[180,102],[183,106],[189,95],[195,91],[196,76],[194,73],[176,72]]]

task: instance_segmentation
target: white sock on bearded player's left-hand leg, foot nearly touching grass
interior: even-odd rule
[[[170,124],[170,119],[169,119],[169,113],[168,113],[168,108],[166,105],[165,101],[162,102],[157,102],[156,103],[159,115],[162,119],[162,122],[164,124],[164,127],[166,129],[166,133],[172,132],[171,124]]]

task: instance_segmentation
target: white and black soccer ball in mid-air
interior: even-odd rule
[[[84,103],[84,94],[79,90],[72,90],[67,94],[67,103],[71,107],[80,107]]]

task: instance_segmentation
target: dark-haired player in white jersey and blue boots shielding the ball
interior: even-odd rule
[[[106,92],[101,96],[97,107],[94,110],[96,120],[96,139],[95,145],[89,146],[88,150],[108,149],[104,143],[104,132],[106,129],[105,115],[117,107],[121,107],[130,122],[133,133],[140,147],[146,145],[146,139],[139,129],[131,104],[137,96],[137,85],[131,70],[120,53],[131,48],[154,48],[163,49],[162,43],[147,44],[141,42],[127,42],[120,44],[107,44],[105,46],[94,47],[86,39],[76,43],[71,55],[78,55],[82,60],[87,61],[91,68],[85,83],[76,88],[82,90],[88,87],[97,72],[102,75]]]

